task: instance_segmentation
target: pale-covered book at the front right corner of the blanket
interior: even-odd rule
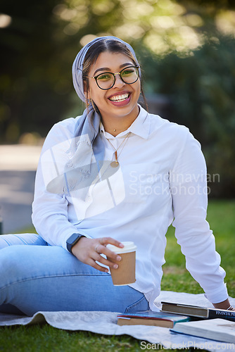
[[[228,322],[220,318],[177,322],[170,331],[228,342],[230,344],[235,343],[235,322]]]

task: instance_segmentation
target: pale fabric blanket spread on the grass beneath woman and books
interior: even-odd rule
[[[229,298],[235,306],[235,298]],[[182,292],[161,291],[155,300],[155,305],[160,308],[161,301],[191,304],[195,306],[211,306],[203,294],[186,294]],[[185,334],[170,332],[165,327],[144,325],[117,325],[117,313],[110,312],[38,312],[32,317],[20,315],[6,315],[0,313],[0,326],[32,325],[47,323],[57,329],[83,330],[96,334],[122,335],[127,334],[141,340],[141,349],[160,348],[192,348],[205,349],[206,351],[234,350],[235,344],[222,343],[210,339],[191,337]]]

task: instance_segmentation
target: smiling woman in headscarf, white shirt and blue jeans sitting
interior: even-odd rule
[[[186,127],[138,105],[141,70],[121,39],[84,46],[72,75],[87,108],[46,137],[32,213],[39,235],[0,238],[0,310],[154,309],[173,219],[186,268],[215,307],[231,309],[205,220],[200,144]],[[106,246],[122,241],[137,246],[136,282],[115,287],[108,267],[121,258]]]

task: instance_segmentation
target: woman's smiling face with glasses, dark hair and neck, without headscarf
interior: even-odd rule
[[[101,113],[106,131],[116,136],[126,130],[139,114],[140,92],[144,96],[134,52],[123,42],[96,42],[84,58],[82,77],[87,101]]]

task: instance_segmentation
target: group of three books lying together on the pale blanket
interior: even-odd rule
[[[168,327],[174,333],[235,344],[235,312],[216,308],[162,302],[162,310],[119,314],[118,325]]]

